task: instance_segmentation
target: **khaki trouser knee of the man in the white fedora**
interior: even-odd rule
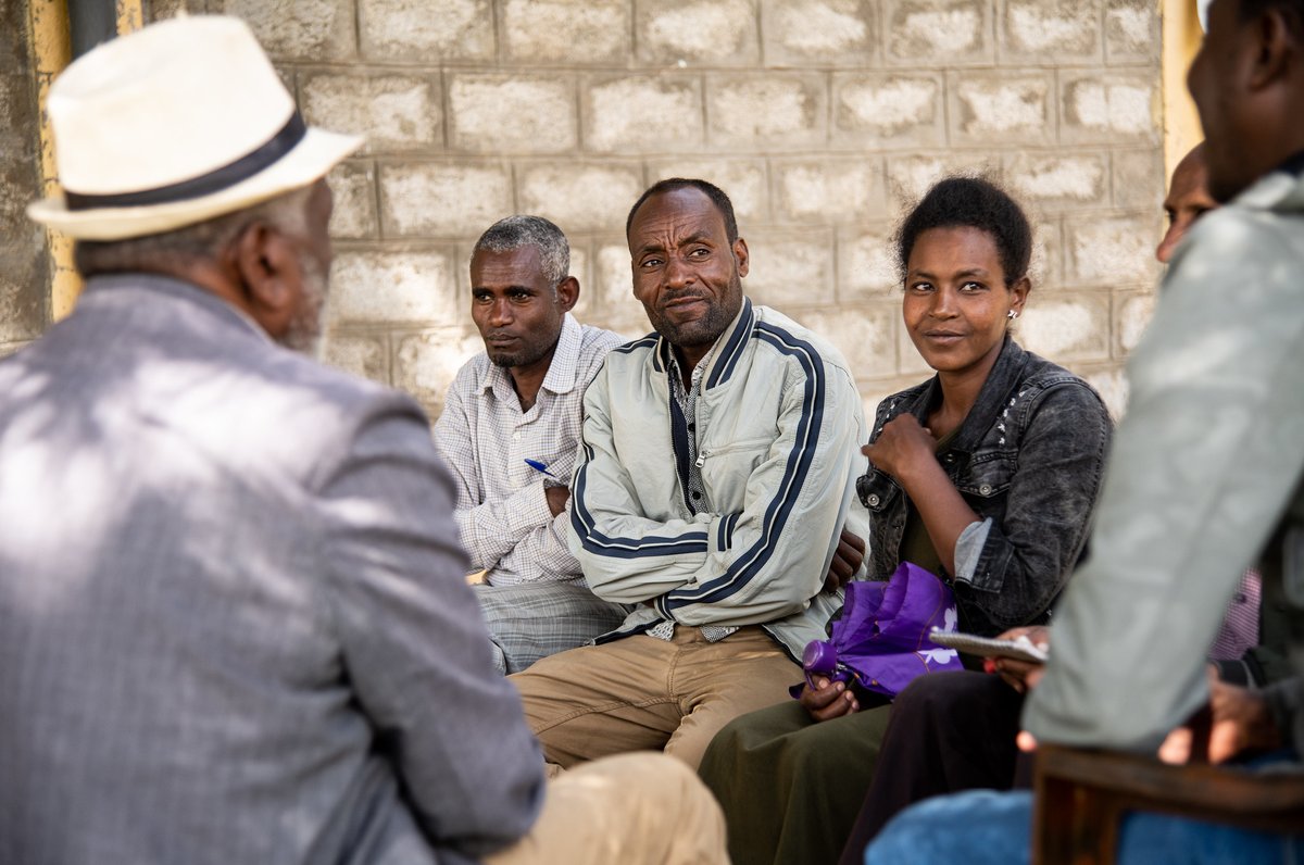
[[[698,776],[662,754],[609,757],[548,783],[533,828],[485,865],[729,865],[725,821]]]

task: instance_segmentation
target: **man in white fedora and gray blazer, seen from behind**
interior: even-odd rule
[[[87,284],[0,363],[0,861],[725,861],[669,758],[544,783],[426,417],[286,351],[359,140],[222,17],[48,110],[65,192],[29,213]]]

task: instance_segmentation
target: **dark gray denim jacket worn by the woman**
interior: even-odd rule
[[[870,441],[897,415],[925,423],[940,401],[936,376],[888,397]],[[975,564],[941,574],[956,591],[961,630],[998,634],[1050,618],[1086,541],[1111,431],[1090,385],[1005,338],[969,416],[938,454],[983,521],[962,536],[979,544]],[[900,564],[909,498],[872,466],[857,492],[870,509],[870,575],[887,579]]]

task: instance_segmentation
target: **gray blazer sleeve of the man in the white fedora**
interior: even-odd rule
[[[472,857],[512,843],[539,813],[542,758],[493,671],[452,484],[416,407],[373,406],[321,497],[347,678],[419,825]]]

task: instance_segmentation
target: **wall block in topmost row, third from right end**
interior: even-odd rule
[[[885,0],[888,65],[990,65],[991,7],[988,0]]]

